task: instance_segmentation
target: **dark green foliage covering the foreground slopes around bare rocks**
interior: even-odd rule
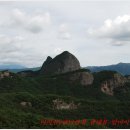
[[[78,70],[86,71],[86,70]],[[116,91],[115,96],[101,92],[100,83],[112,78],[115,72],[94,73],[94,84],[81,86],[63,78],[75,72],[58,76],[13,77],[0,79],[0,128],[119,128],[119,126],[41,125],[42,119],[129,119],[130,84],[127,90]],[[57,110],[53,100],[80,104],[75,110]],[[32,106],[22,106],[30,102]],[[129,128],[129,126],[120,126]]]

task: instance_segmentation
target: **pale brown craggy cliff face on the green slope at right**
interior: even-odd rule
[[[114,89],[124,87],[128,79],[120,74],[114,74],[112,79],[106,80],[101,84],[101,91],[107,95],[114,95]]]

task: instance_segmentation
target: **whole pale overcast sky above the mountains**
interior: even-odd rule
[[[0,65],[41,66],[64,50],[81,66],[130,63],[130,2],[0,1]]]

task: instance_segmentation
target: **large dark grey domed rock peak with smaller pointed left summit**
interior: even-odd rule
[[[43,63],[40,73],[41,74],[62,74],[80,69],[80,63],[78,59],[69,53],[64,51],[54,59],[48,57]]]

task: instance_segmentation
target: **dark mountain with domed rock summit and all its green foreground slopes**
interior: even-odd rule
[[[128,129],[119,123],[129,121],[129,110],[130,76],[92,73],[70,52],[47,57],[36,71],[0,71],[0,128]]]

